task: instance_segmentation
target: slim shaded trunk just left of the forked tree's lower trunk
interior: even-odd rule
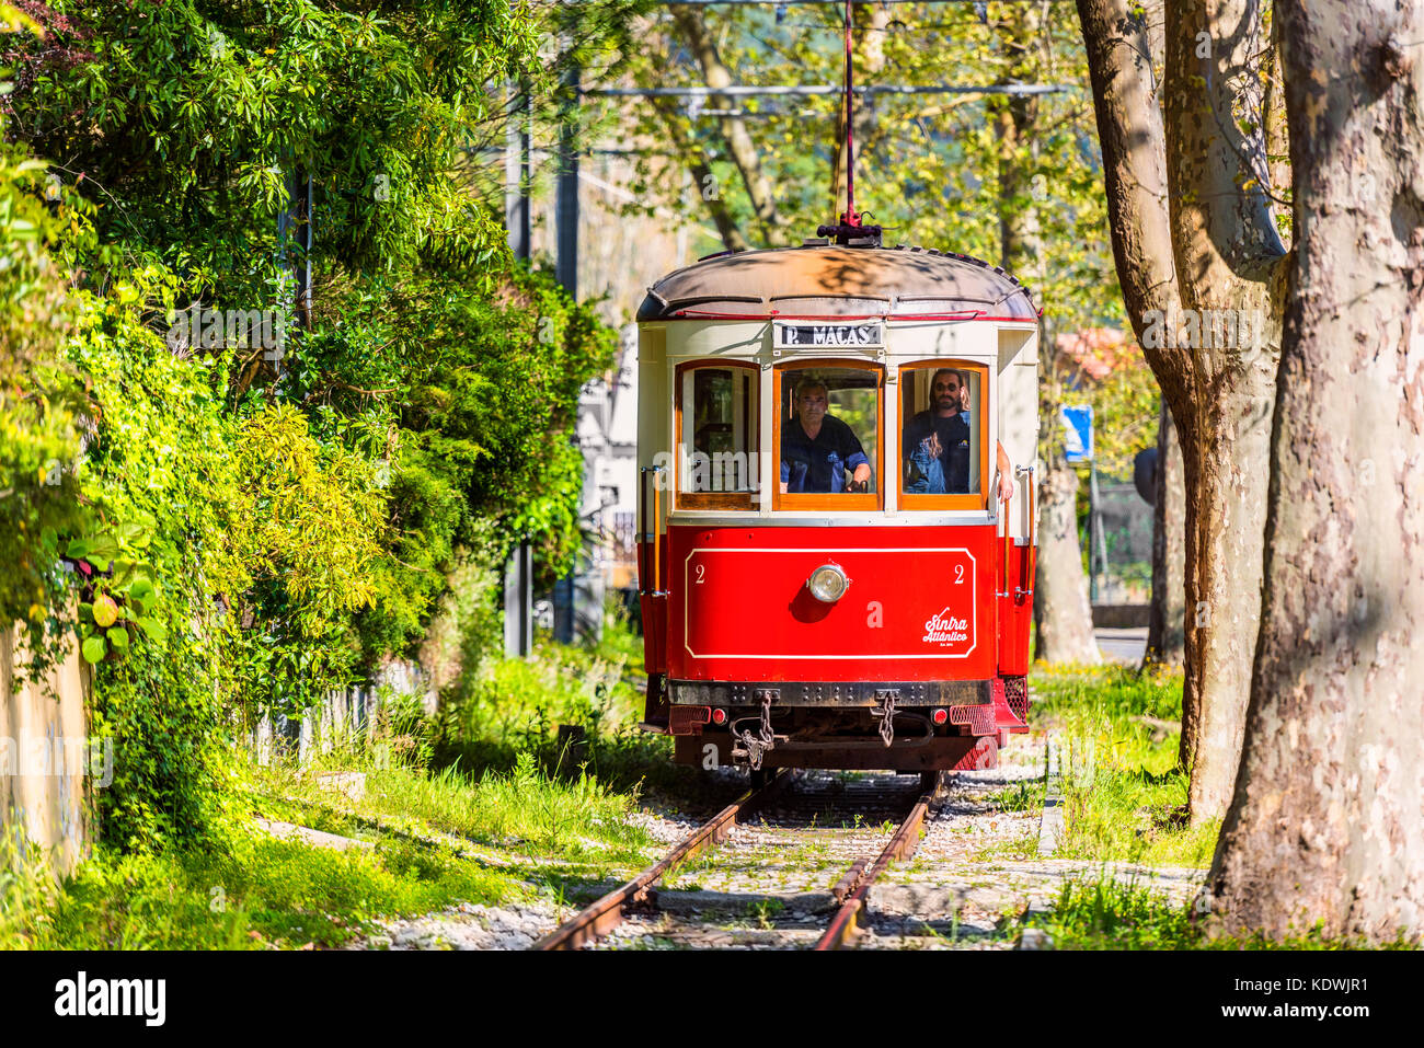
[[[1143,665],[1180,666],[1186,649],[1186,491],[1182,487],[1182,444],[1166,402],[1158,419],[1155,487],[1152,609]]]

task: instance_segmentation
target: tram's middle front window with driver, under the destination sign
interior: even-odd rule
[[[779,377],[779,493],[860,496],[857,508],[877,505],[881,370],[787,366]]]

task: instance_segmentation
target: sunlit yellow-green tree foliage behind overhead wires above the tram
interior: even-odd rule
[[[1044,19],[1032,33],[1032,47],[1024,48],[1018,9],[990,4],[981,19],[973,4],[897,4],[881,31],[871,31],[867,9],[859,9],[857,81],[941,83],[948,63],[960,84],[1085,84],[1087,56],[1075,20]],[[843,11],[834,4],[786,19],[756,7],[706,10],[698,17],[716,40],[735,83],[842,80]],[[646,31],[649,41],[632,66],[641,83],[705,85],[695,54],[671,23],[649,24]],[[871,48],[884,61],[883,73],[874,77],[864,66]],[[624,121],[648,128],[654,141],[669,141],[652,107],[641,100],[608,104],[621,107]],[[779,234],[797,243],[819,224],[833,221],[827,154],[836,141],[840,98],[795,104],[746,98],[738,100],[738,107],[760,115],[742,125],[772,182]],[[1074,330],[1121,316],[1091,93],[1072,90],[1032,100],[877,95],[873,103],[857,100],[857,108],[866,124],[856,132],[856,204],[871,212],[873,222],[889,226],[887,242],[924,243],[1001,262],[1001,214],[1035,208],[1038,272],[1017,276],[1047,308],[1051,329]],[[1002,128],[1014,111],[1034,114],[1032,130],[1017,141]],[[748,239],[759,243],[762,232],[726,147],[725,125],[678,120],[711,159],[721,202],[732,209]],[[651,212],[669,206],[705,221],[702,192],[685,192],[684,179],[666,172],[692,158],[686,152],[639,154],[639,181],[631,187],[635,202],[629,208]]]

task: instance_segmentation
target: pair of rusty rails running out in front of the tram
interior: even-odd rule
[[[572,918],[537,941],[533,948],[577,950],[607,936],[609,931],[622,924],[631,913],[637,913],[639,908],[655,907],[656,891],[654,886],[659,880],[693,856],[709,852],[725,842],[728,836],[731,836],[735,826],[750,820],[755,814],[763,812],[773,800],[782,797],[790,789],[790,779],[792,776],[783,772],[778,777],[768,782],[763,787],[749,790],[743,796],[738,797],[711,820],[688,834],[662,860],[654,863],[632,880],[614,889],[591,906],[581,910]],[[836,883],[832,889],[834,911],[829,924],[816,941],[813,947],[815,950],[837,950],[853,941],[856,933],[859,931],[857,920],[864,914],[866,896],[870,887],[891,863],[903,861],[914,854],[920,840],[920,827],[923,826],[926,814],[941,789],[941,785],[943,776],[938,773],[921,776],[918,795],[910,806],[910,810],[900,819],[899,826],[891,833],[890,842],[873,859],[863,856],[854,860]],[[824,809],[809,810],[807,802],[813,800],[815,799],[803,800],[800,807],[805,810],[802,810],[799,816],[793,817],[795,822],[803,823],[803,829],[816,827],[817,819],[827,813]],[[793,797],[790,803],[795,807],[796,799]],[[867,803],[884,807],[887,802],[876,793],[874,789],[871,789],[870,797],[867,799],[862,796],[859,803],[864,809],[867,807]],[[891,799],[889,800],[889,805],[897,810],[904,810],[903,800],[897,802]],[[856,826],[860,826],[859,814]],[[819,827],[819,832],[826,833],[827,830],[824,827]]]

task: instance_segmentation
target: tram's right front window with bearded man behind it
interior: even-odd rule
[[[907,508],[916,496],[983,497],[984,383],[981,366],[934,363],[900,370],[900,491]]]

